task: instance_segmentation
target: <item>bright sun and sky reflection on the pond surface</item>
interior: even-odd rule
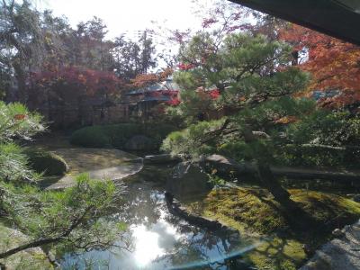
[[[189,225],[168,213],[163,192],[148,183],[130,184],[124,205],[109,219],[129,224],[132,249],[67,254],[62,266],[95,269],[248,269],[233,259],[255,247],[257,239]],[[121,244],[121,243],[119,243]],[[90,261],[90,263],[89,263]]]

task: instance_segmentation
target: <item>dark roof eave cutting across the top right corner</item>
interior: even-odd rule
[[[360,0],[230,0],[360,45]]]

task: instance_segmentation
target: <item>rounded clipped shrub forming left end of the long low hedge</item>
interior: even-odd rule
[[[101,126],[92,126],[76,130],[70,143],[85,148],[104,148],[111,145],[111,140]]]

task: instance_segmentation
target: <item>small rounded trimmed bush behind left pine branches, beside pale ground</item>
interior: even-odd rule
[[[29,158],[29,166],[39,174],[44,173],[46,176],[54,176],[67,173],[67,163],[55,153],[27,149],[25,154]]]

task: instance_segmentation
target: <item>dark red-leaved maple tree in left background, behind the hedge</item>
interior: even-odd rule
[[[112,72],[81,67],[49,68],[48,71],[33,73],[29,89],[32,108],[48,107],[48,120],[52,115],[65,115],[65,110],[72,107],[78,112],[78,122],[82,123],[86,101],[96,97],[101,102],[101,110],[107,103],[121,96],[124,83]]]

